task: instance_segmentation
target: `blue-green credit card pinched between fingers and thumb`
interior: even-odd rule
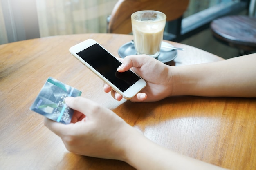
[[[81,96],[81,91],[49,77],[39,92],[30,110],[48,119],[70,124],[74,110],[65,104],[66,97]]]

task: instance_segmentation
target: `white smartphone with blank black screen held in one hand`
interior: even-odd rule
[[[125,99],[131,99],[146,86],[145,80],[131,70],[118,72],[122,63],[95,40],[72,46],[70,53]]]

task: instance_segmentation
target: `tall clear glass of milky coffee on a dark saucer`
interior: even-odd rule
[[[137,11],[131,15],[137,54],[157,58],[163,40],[166,15],[159,11]]]

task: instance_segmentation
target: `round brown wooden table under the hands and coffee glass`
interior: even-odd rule
[[[170,97],[159,102],[117,102],[103,92],[103,82],[69,53],[93,38],[115,56],[131,35],[81,34],[39,38],[0,46],[1,170],[134,170],[122,161],[75,155],[29,110],[48,77],[80,89],[83,97],[115,111],[157,144],[233,170],[256,169],[256,99]],[[172,65],[222,58],[182,47]],[[129,134],[127,134],[129,135]]]

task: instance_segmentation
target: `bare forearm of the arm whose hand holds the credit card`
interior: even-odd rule
[[[163,148],[139,133],[129,139],[124,161],[137,170],[224,170]]]

